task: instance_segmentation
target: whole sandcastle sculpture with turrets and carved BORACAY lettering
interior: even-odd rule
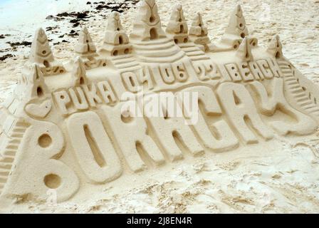
[[[122,112],[123,95],[146,101],[163,91],[174,99],[196,93],[197,121],[185,124],[187,112],[169,115],[162,100],[160,116]],[[211,43],[200,14],[188,28],[176,6],[164,32],[155,1],[145,0],[130,36],[117,13],[101,48],[83,28],[71,68],[55,61],[39,29],[0,110],[0,202],[21,195],[46,200],[48,190],[62,202],[83,183],[107,185],[147,164],[234,150],[275,134],[311,134],[318,99],[318,88],[283,56],[278,36],[267,49],[249,36],[240,6],[221,41]],[[182,110],[184,100],[178,104]]]

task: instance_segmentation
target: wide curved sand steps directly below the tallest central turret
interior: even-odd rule
[[[146,63],[173,63],[185,56],[172,38],[158,38],[134,43],[140,61]]]

